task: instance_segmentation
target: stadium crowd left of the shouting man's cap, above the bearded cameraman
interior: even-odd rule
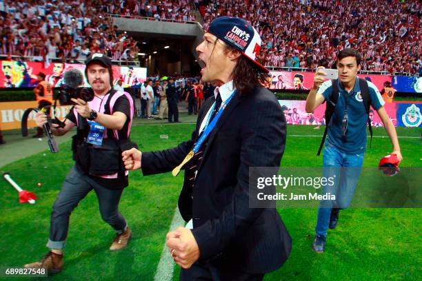
[[[137,42],[108,14],[194,21],[190,1],[0,1],[0,54],[83,62],[92,52],[137,61]]]

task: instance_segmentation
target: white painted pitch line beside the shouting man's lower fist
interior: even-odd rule
[[[174,210],[174,216],[170,225],[170,231],[177,227],[183,227],[185,221],[180,215],[179,208]],[[163,251],[161,252],[160,262],[155,272],[154,281],[170,281],[173,279],[174,261],[170,256],[167,246],[164,244]]]

